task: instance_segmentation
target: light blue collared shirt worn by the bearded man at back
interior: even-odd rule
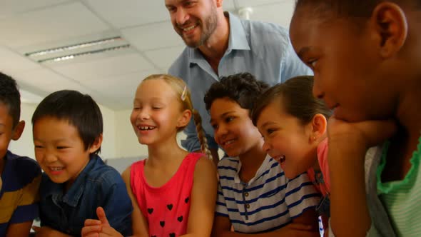
[[[210,85],[219,81],[220,76],[249,72],[259,81],[275,85],[293,76],[312,74],[296,56],[288,31],[283,27],[260,21],[240,20],[233,14],[225,13],[225,16],[230,21],[230,35],[228,49],[218,65],[218,75],[201,51],[189,47],[184,49],[168,71],[168,74],[186,81],[191,89],[193,107],[202,117],[210,148],[218,146],[213,140],[213,128],[210,126],[210,116],[203,97]],[[185,133],[187,138],[182,141],[183,147],[188,151],[200,150],[193,119]]]

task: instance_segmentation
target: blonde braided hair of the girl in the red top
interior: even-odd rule
[[[201,151],[208,156],[212,160],[212,153],[210,153],[210,150],[208,148],[208,140],[206,139],[205,132],[202,128],[202,119],[201,115],[196,109],[193,109],[193,104],[191,103],[191,94],[190,90],[188,89],[186,83],[182,79],[179,79],[176,76],[171,76],[168,74],[153,74],[146,79],[143,79],[143,81],[148,80],[156,80],[161,79],[165,81],[171,88],[176,92],[177,94],[177,101],[181,104],[181,111],[184,111],[186,109],[191,111],[191,114],[193,115],[194,123],[196,124],[196,131],[198,132],[198,138],[201,143]],[[186,126],[180,127],[177,129],[177,131],[183,131],[183,129],[186,128]]]

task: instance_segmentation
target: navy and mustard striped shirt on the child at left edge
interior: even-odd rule
[[[33,221],[38,216],[38,190],[41,168],[34,159],[7,151],[4,157],[4,181],[0,190],[0,236],[6,236],[10,224]]]

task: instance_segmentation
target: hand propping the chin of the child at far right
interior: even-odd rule
[[[397,131],[394,120],[372,120],[350,123],[332,116],[328,121],[330,148],[354,148],[366,151],[376,146]]]

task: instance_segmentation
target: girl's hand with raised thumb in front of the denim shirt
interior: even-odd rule
[[[98,216],[98,220],[87,219],[85,221],[85,226],[81,232],[82,237],[123,237],[121,233],[118,233],[118,231],[110,226],[103,208],[96,208],[96,216]]]

